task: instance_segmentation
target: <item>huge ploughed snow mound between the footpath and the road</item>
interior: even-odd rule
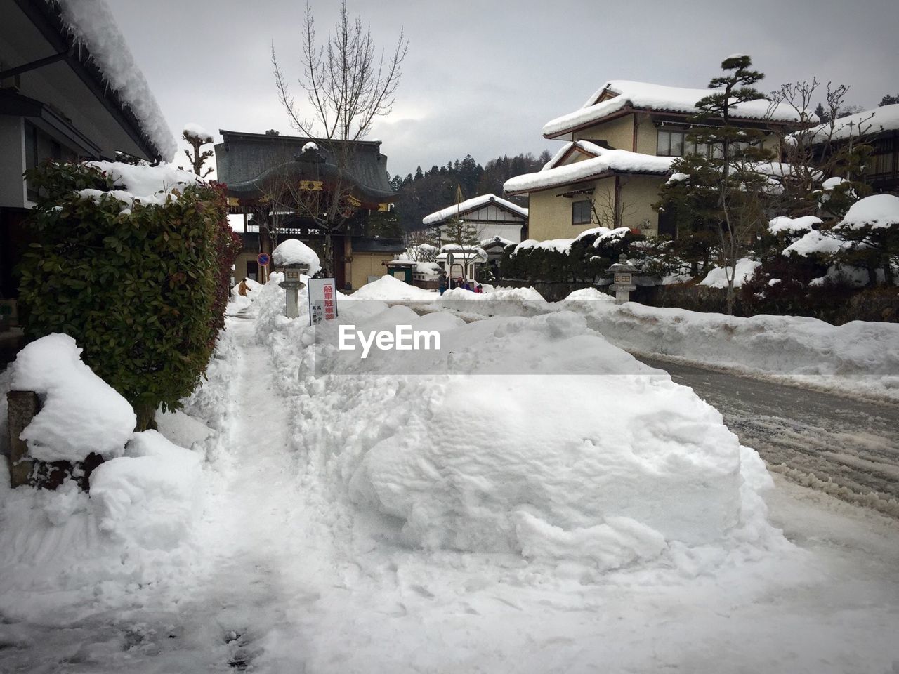
[[[608,570],[681,545],[775,537],[755,492],[768,480],[761,461],[751,451],[744,460],[720,414],[689,388],[610,345],[583,316],[463,324],[405,306],[353,315],[377,303],[347,304],[340,320],[357,329],[441,331],[440,350],[360,359],[320,345],[316,377],[285,370],[287,389],[310,396],[294,430],[321,457],[310,458],[320,472],[307,480],[354,504],[375,539]],[[272,358],[311,359],[311,329],[265,311]],[[336,327],[317,326],[316,340]]]

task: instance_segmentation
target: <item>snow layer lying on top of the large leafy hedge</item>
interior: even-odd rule
[[[104,192],[101,190],[81,190],[78,193],[88,199],[99,201],[104,194],[111,194],[125,204],[126,209],[138,200],[144,204],[165,204],[166,197],[171,194],[177,199],[177,193],[188,185],[203,184],[200,178],[174,164],[157,166],[135,166],[121,162],[88,162],[89,165],[108,174],[120,190]]]

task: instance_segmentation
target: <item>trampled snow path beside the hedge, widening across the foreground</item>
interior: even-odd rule
[[[748,558],[688,549],[596,572],[400,545],[325,477],[341,470],[339,443],[365,439],[366,419],[402,424],[414,401],[301,374],[257,329],[228,318],[230,348],[209,381],[224,402],[206,419],[221,436],[196,531],[202,563],[118,603],[0,621],[0,670],[899,671],[895,520],[779,481],[770,519],[795,545]]]

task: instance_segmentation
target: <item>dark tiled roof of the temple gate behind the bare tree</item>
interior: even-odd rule
[[[215,146],[218,180],[227,184],[228,193],[244,199],[262,196],[266,179],[288,176],[291,180],[336,179],[340,174],[354,183],[353,192],[367,203],[385,203],[396,199],[387,181],[387,157],[380,153],[380,143],[355,141],[342,171],[335,160],[335,148],[341,141],[298,136],[269,136],[219,129],[222,142]],[[317,164],[316,175],[309,174],[311,164],[297,161],[303,146],[313,142],[323,162]]]

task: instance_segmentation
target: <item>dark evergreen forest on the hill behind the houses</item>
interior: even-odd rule
[[[456,203],[456,187],[462,189],[464,199],[482,194],[503,197],[503,183],[522,173],[533,173],[543,168],[552,155],[545,150],[539,157],[527,155],[503,155],[491,159],[484,166],[478,164],[471,155],[464,159],[448,162],[445,166],[434,165],[427,171],[419,166],[415,173],[405,178],[395,175],[390,184],[399,194],[394,214],[403,231],[422,228],[422,218],[434,211]],[[510,198],[510,201],[527,206],[526,198]]]

